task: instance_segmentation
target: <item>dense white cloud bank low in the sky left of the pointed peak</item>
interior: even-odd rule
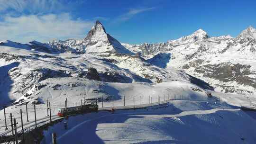
[[[70,14],[3,16],[0,21],[0,40],[27,43],[32,40],[47,42],[52,39],[82,38],[93,22],[73,19]]]

